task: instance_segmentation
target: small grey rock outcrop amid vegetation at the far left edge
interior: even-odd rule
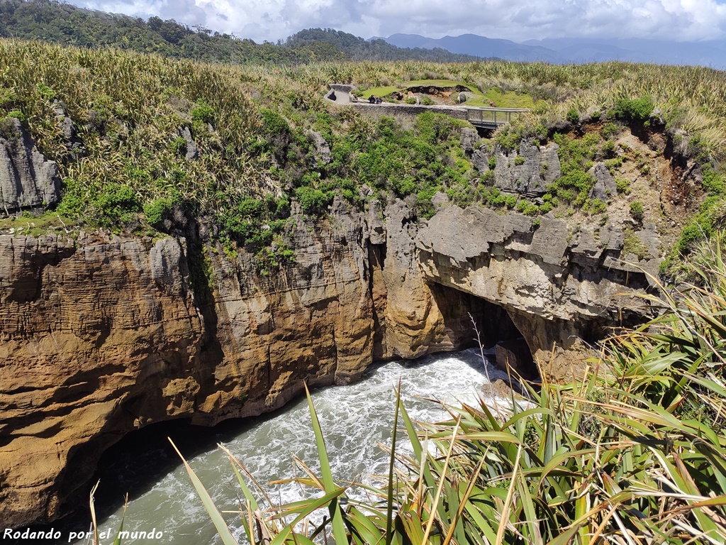
[[[0,217],[21,209],[57,203],[60,178],[15,118],[2,122],[0,134]]]

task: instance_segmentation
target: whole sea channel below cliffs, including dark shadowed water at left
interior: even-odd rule
[[[489,358],[493,361],[494,357]],[[426,398],[444,396],[443,400],[449,403],[456,400],[476,403],[478,396],[486,400],[486,388],[483,393],[481,387],[487,382],[487,374],[492,381],[505,378],[505,373],[489,361],[486,367],[483,365],[478,349],[470,349],[414,362],[393,361],[372,366],[360,382],[313,392],[336,481],[365,481],[367,475],[387,472],[388,457],[379,443],[391,441],[393,387],[399,377],[402,397],[412,418],[437,421],[445,419],[446,413]],[[197,430],[202,436],[199,443],[190,437]],[[102,460],[101,488],[106,493],[97,495],[97,508],[105,511],[99,520],[101,530],[118,528],[121,516],[118,498],[130,488],[134,498],[129,501],[124,530],[163,531],[160,540],[134,543],[221,543],[184,468],[176,463],[176,454],[160,435],[170,435],[180,445],[219,509],[235,509],[240,492],[227,457],[216,448],[217,442],[224,443],[261,483],[295,475],[293,454],[317,469],[314,436],[304,398],[276,413],[248,419],[242,424],[239,421],[221,424],[211,430],[172,426],[163,431],[144,429],[139,433],[144,432],[153,440],[141,440],[146,445],[138,444],[137,440],[128,450],[117,445],[112,448],[116,453]],[[113,493],[109,493],[109,488],[115,488]],[[268,486],[267,489],[273,501],[294,501],[302,496],[298,485]],[[118,504],[118,508],[110,512],[110,507],[103,504]],[[226,518],[236,528],[240,543],[244,542],[239,518],[234,515]],[[55,528],[68,525],[68,530],[63,532],[68,536],[69,530],[79,529],[78,524],[65,521]],[[81,545],[85,541],[74,543]]]

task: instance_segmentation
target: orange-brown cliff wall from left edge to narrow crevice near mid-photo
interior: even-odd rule
[[[269,275],[184,239],[1,236],[0,518],[68,512],[137,427],[259,414],[304,380],[358,377],[372,360],[367,228],[333,218],[297,222],[297,262]]]

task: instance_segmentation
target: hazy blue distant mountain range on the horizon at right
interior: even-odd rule
[[[556,63],[624,60],[670,65],[702,65],[726,68],[726,40],[664,41],[648,39],[560,38],[515,41],[476,34],[433,39],[417,34],[393,34],[386,40],[397,47],[441,48],[460,55],[498,57],[505,60]]]

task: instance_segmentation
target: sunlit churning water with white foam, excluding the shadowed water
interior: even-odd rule
[[[505,378],[502,371],[481,361],[478,350],[437,355],[416,362],[391,362],[373,366],[356,384],[330,387],[313,392],[313,400],[325,435],[333,477],[342,484],[368,480],[367,475],[387,472],[388,455],[378,446],[390,445],[395,410],[393,388],[401,382],[401,397],[412,419],[439,421],[448,413],[438,403],[427,399],[443,396],[446,403],[461,401],[476,405],[478,397],[486,399],[482,386],[486,375],[494,381]],[[506,400],[499,400],[506,403]],[[317,471],[317,451],[306,401],[296,400],[274,416],[262,417],[226,443],[229,451],[256,476],[258,482],[301,475],[293,464],[293,455]],[[401,445],[405,448],[405,445]],[[227,456],[219,449],[189,458],[189,464],[205,483],[219,509],[233,510],[240,496]],[[293,483],[270,486],[266,490],[273,501],[296,501],[304,491]],[[118,527],[121,509],[102,528]],[[227,520],[242,542],[240,520]],[[199,498],[192,489],[183,467],[177,467],[138,498],[129,502],[126,525],[134,528],[160,528],[175,545],[220,544],[216,531]],[[77,542],[78,545],[81,542]]]

